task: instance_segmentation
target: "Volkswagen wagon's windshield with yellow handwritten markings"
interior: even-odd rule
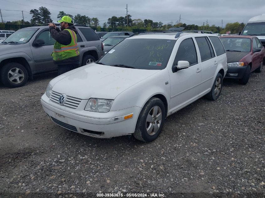
[[[176,40],[168,39],[125,39],[106,53],[98,63],[161,70],[167,66],[175,43]]]

